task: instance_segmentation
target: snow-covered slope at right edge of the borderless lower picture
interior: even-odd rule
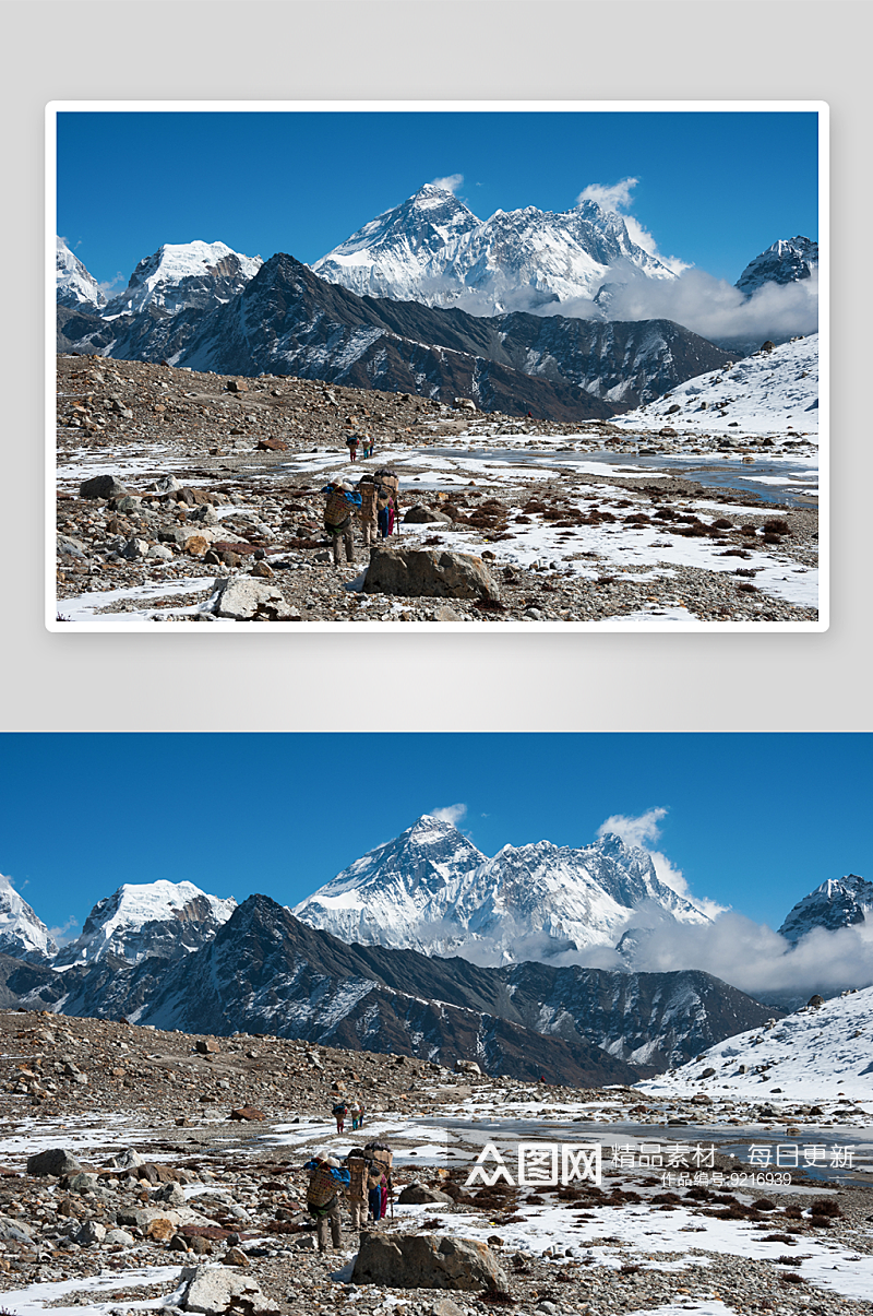
[[[640,1086],[653,1094],[718,1091],[757,1101],[770,1096],[777,1101],[869,1099],[873,987],[803,1005],[769,1026],[728,1037],[696,1061]]]

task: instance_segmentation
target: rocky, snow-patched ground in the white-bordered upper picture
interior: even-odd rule
[[[352,429],[376,441],[354,466]],[[710,442],[714,461],[768,451],[760,437],[693,442],[699,454]],[[671,443],[412,392],[62,355],[57,616],[230,628],[815,620],[802,579],[815,578],[814,508],[585,461]],[[323,483],[387,463],[404,513],[389,549],[417,554],[400,563],[406,594],[368,591],[360,549],[337,570],[321,529]],[[464,582],[434,586],[459,559]]]

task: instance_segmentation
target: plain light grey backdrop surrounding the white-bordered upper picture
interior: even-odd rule
[[[869,729],[869,5],[16,0],[4,3],[0,16],[7,46],[0,730]],[[830,630],[46,632],[43,108],[50,100],[99,99],[826,100]],[[756,150],[767,143],[749,141]],[[100,161],[83,161],[83,168],[99,187]],[[160,186],[141,176],[137,162],[131,182]],[[339,788],[346,767],[354,775],[354,763],[338,765]]]

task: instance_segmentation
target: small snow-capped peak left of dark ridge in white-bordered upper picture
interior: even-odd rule
[[[167,242],[139,262],[104,316],[135,315],[147,307],[167,315],[208,309],[242,292],[262,265],[259,255],[241,255],[225,242]]]

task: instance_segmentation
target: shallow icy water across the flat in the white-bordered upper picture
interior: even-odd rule
[[[569,449],[546,451],[536,449],[456,449],[423,447],[422,457],[447,457],[455,461],[464,457],[473,461],[498,461],[521,466],[554,466],[572,468],[584,462],[611,466],[615,474],[644,474],[646,471],[667,471],[673,475],[696,480],[710,488],[736,490],[742,494],[756,494],[764,503],[786,503],[790,507],[814,507],[818,494],[818,470],[793,461],[773,461],[763,458],[755,462],[738,459],[713,461],[699,457],[661,457],[640,453],[639,457],[622,457],[617,453],[580,453]]]

